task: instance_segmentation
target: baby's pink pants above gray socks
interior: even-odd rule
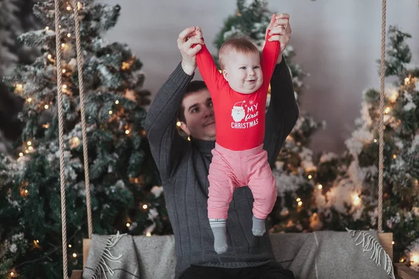
[[[235,188],[249,186],[253,194],[253,215],[265,219],[277,200],[277,186],[263,144],[233,151],[215,144],[208,180],[208,218],[227,219]]]

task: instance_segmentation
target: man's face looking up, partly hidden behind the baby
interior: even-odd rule
[[[197,140],[215,140],[214,108],[210,91],[202,89],[190,93],[182,100],[186,123],[180,128]]]

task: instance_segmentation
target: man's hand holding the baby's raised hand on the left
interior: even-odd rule
[[[199,34],[199,35],[198,35]],[[188,27],[179,33],[177,48],[182,54],[182,68],[188,75],[192,75],[196,69],[196,54],[204,44],[200,27]]]

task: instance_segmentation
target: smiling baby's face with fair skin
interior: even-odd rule
[[[231,89],[239,93],[250,94],[263,83],[259,54],[242,54],[235,51],[226,57],[223,76]]]

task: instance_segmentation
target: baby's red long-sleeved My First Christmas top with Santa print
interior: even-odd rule
[[[240,151],[253,149],[263,143],[267,89],[278,55],[279,42],[266,40],[260,58],[263,84],[255,92],[244,94],[230,88],[205,45],[196,54],[200,74],[214,105],[217,144]]]

